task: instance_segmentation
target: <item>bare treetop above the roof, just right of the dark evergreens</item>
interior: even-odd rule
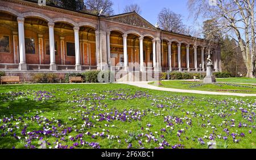
[[[113,2],[111,0],[85,0],[86,9],[94,12],[95,14],[100,13],[105,15],[113,15],[114,10],[112,8]]]

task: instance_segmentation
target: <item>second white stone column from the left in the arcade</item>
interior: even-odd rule
[[[48,27],[49,27],[50,70],[57,70],[57,66],[55,64],[54,23],[48,23]]]

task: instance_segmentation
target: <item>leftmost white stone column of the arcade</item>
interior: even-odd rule
[[[24,18],[17,18],[19,31],[19,70],[27,70],[25,54]]]

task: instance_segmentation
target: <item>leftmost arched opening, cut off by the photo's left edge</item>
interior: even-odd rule
[[[11,13],[0,11],[0,63],[18,64],[18,22]],[[2,68],[2,65],[0,65]]]

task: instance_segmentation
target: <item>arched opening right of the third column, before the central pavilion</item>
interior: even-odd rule
[[[82,26],[79,30],[81,65],[96,66],[96,35],[94,28]]]

